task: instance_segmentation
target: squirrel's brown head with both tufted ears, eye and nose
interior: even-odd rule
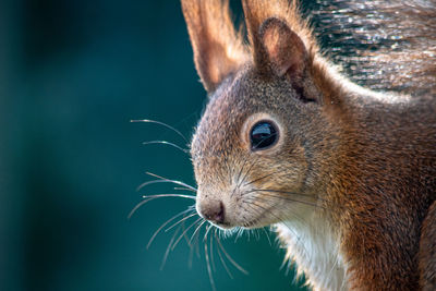
[[[209,94],[191,146],[196,207],[222,228],[264,227],[314,210],[320,168],[331,160],[326,147],[338,146],[328,113],[335,94],[319,81],[307,28],[280,17],[292,14],[283,12],[286,2],[243,2],[247,48],[227,1],[182,1]]]

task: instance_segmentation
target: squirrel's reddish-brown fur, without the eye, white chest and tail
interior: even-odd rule
[[[192,143],[198,211],[223,204],[223,228],[319,216],[340,242],[349,289],[431,290],[434,83],[414,98],[355,86],[322,56],[294,1],[243,1],[251,54],[234,33],[227,1],[182,4],[196,68],[211,95]],[[426,11],[436,17],[434,5]],[[422,16],[414,21],[424,27]],[[416,84],[434,80],[435,59],[426,52],[414,57],[405,71],[421,72]],[[257,116],[280,129],[279,143],[258,153],[250,150],[246,137]],[[313,287],[325,288],[307,272]]]

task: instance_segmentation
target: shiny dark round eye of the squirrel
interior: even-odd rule
[[[272,146],[278,140],[278,131],[272,122],[267,120],[258,121],[250,132],[252,150],[266,149]]]

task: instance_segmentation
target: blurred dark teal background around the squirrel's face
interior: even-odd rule
[[[235,10],[240,8],[235,4]],[[179,1],[0,1],[0,290],[211,290],[203,244],[190,268],[173,230],[154,231],[192,201],[164,198],[128,215],[144,194],[173,192],[154,172],[195,184],[190,159],[166,145],[190,138],[206,94]],[[217,290],[299,290],[269,234],[216,245]]]

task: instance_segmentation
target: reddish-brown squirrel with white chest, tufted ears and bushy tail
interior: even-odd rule
[[[314,290],[436,290],[436,3],[334,4],[319,25],[350,34],[351,76],[295,0],[242,0],[240,31],[229,1],[182,0],[208,95],[196,210],[272,226]]]

